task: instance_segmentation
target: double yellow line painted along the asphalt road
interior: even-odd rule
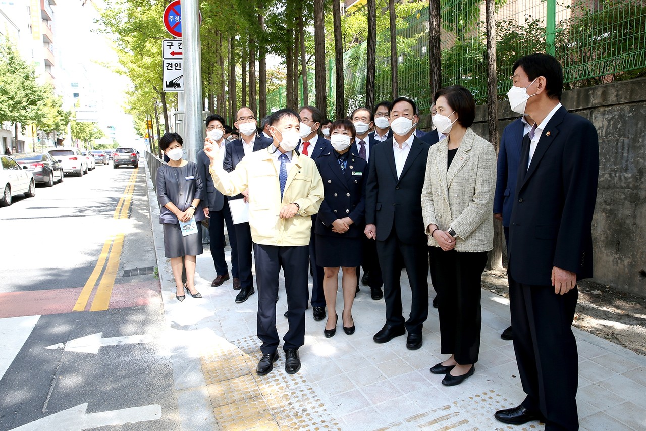
[[[123,196],[121,196],[121,199],[114,210],[112,218],[115,220],[128,218],[128,211],[130,209],[130,203],[132,202],[132,194],[134,193],[134,184],[137,180],[137,171],[139,171],[139,169],[132,171],[128,185],[123,192]],[[99,279],[101,272],[103,272],[106,260],[108,264],[105,268],[105,272],[103,272],[103,277],[101,277],[101,281],[99,282],[99,287],[96,289],[96,293],[94,294],[94,300],[92,300],[90,311],[104,311],[108,309],[110,296],[112,295],[112,288],[114,287],[114,279],[116,279],[117,271],[119,269],[124,237],[124,233],[111,235],[103,244],[103,249],[101,249],[101,254],[96,262],[96,266],[94,266],[94,270],[92,270],[90,278],[87,279],[83,290],[81,290],[81,294],[76,300],[76,305],[74,305],[72,311],[85,311],[87,303],[90,300],[90,296],[92,295],[92,291],[94,291],[96,281]]]

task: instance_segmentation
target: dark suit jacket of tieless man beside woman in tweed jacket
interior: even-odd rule
[[[377,226],[378,241],[386,240],[395,230],[397,238],[404,244],[426,244],[422,187],[430,147],[419,138],[413,138],[399,178],[393,140],[385,140],[373,148],[366,183],[366,224]]]

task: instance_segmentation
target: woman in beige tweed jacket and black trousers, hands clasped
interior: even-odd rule
[[[452,386],[475,372],[480,350],[481,277],[493,248],[495,151],[475,134],[472,94],[456,85],[435,93],[433,124],[448,135],[428,152],[422,213],[437,284],[441,353],[431,372]]]

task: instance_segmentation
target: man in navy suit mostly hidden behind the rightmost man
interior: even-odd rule
[[[516,193],[516,178],[518,165],[521,161],[523,136],[529,133],[534,125],[530,116],[522,116],[503,130],[498,149],[497,178],[495,182],[494,217],[503,222],[505,244],[509,249],[509,219],[512,217],[514,194]],[[511,340],[514,336],[510,325],[501,333],[503,340]]]

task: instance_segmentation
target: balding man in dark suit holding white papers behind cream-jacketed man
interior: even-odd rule
[[[240,108],[236,113],[236,122],[234,123],[236,129],[240,130],[242,139],[229,142],[226,146],[224,162],[222,166],[227,172],[236,169],[236,165],[240,163],[245,155],[251,152],[266,149],[273,142],[272,140],[259,136],[256,133],[256,116],[253,110],[249,108]],[[236,199],[244,199],[248,202],[249,192],[244,191],[236,196],[227,196],[229,201]],[[238,273],[240,274],[240,292],[236,295],[236,303],[240,304],[245,302],[250,295],[255,293],[253,288],[253,273],[251,273],[251,251],[253,249],[253,242],[251,241],[251,228],[249,222],[242,222],[234,224],[234,231],[236,233],[236,242],[238,246]]]

